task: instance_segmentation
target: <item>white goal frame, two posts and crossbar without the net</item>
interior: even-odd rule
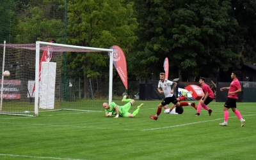
[[[49,43],[44,41],[36,41],[36,69],[35,69],[35,116],[39,113],[39,62],[40,62],[40,45],[49,45],[56,47],[66,47],[66,48],[78,48],[84,50],[97,50],[103,52],[109,52],[109,103],[112,101],[112,85],[113,85],[113,49],[106,48],[93,48],[93,47],[82,47],[76,45],[63,45],[60,43]]]

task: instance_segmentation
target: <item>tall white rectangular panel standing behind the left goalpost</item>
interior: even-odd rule
[[[42,62],[39,108],[54,109],[56,62]]]

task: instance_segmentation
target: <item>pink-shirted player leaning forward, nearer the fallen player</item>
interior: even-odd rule
[[[209,109],[207,105],[211,103],[211,101],[214,99],[214,93],[212,92],[209,85],[205,84],[204,82],[205,82],[204,77],[199,78],[199,84],[202,85],[204,96],[198,101],[197,113],[195,114],[196,116],[200,115],[200,111],[202,107],[208,111],[209,115],[212,114],[212,110]]]

